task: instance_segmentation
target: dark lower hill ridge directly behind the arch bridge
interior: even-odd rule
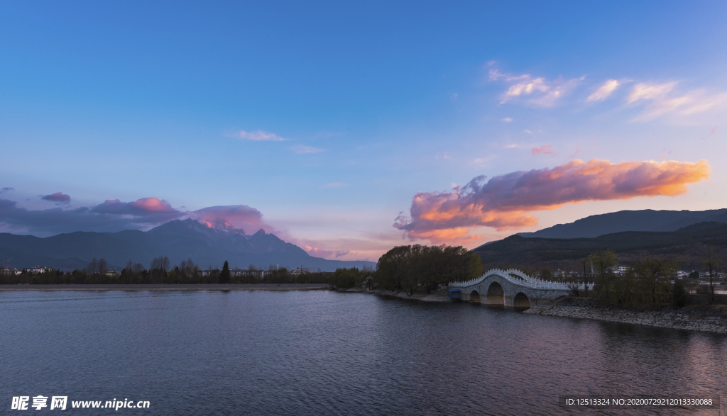
[[[510,266],[582,270],[582,259],[593,251],[613,250],[621,263],[640,256],[667,256],[683,262],[684,269],[701,269],[706,247],[727,255],[727,224],[702,222],[677,231],[628,231],[595,238],[540,238],[511,235],[473,250],[487,268]]]

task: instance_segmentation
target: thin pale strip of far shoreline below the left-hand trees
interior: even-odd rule
[[[329,290],[324,283],[281,283],[260,285],[0,285],[1,291],[16,290]]]

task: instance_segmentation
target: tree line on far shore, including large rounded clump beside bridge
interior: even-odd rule
[[[250,265],[249,269],[255,269]],[[451,281],[464,281],[483,272],[479,256],[463,247],[446,245],[402,245],[392,248],[379,258],[377,270],[337,269],[334,273],[292,273],[285,267],[270,265],[260,274],[233,276],[228,261],[222,269],[200,269],[192,258],[170,266],[169,258],[154,258],[146,269],[141,263],[129,261],[121,274],[107,273],[108,262],[94,258],[87,267],[73,272],[36,275],[3,276],[2,283],[32,284],[195,284],[195,283],[327,283],[336,287],[353,287],[369,282],[369,286],[388,290],[405,290],[408,295],[425,290],[430,293],[438,285]]]

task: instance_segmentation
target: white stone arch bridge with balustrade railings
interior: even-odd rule
[[[462,301],[501,305],[515,308],[529,308],[542,305],[571,293],[574,283],[549,282],[534,279],[520,270],[491,269],[477,279],[467,282],[450,282],[450,290],[461,290]],[[588,283],[593,290],[593,283]],[[585,290],[581,283],[578,290]]]

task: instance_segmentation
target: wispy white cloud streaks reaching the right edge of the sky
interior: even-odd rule
[[[727,102],[727,93],[707,94],[702,90],[675,91],[677,81],[637,83],[627,97],[627,104],[645,104],[643,113],[634,121],[650,121],[667,113],[692,115],[704,113]]]

